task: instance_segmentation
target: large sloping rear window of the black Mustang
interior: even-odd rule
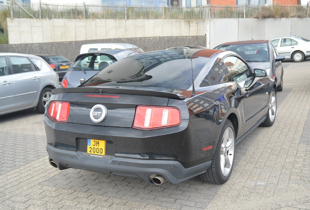
[[[83,86],[189,89],[210,60],[183,50],[141,53],[121,59],[90,78]],[[192,71],[193,67],[193,71]]]

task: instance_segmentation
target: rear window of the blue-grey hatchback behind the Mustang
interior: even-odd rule
[[[116,62],[116,59],[109,54],[90,53],[79,56],[71,67],[71,71],[103,70]]]

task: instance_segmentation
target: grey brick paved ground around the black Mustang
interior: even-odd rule
[[[59,171],[48,163],[43,115],[0,116],[0,210],[310,210],[310,59],[283,65],[276,121],[237,145],[224,185]]]

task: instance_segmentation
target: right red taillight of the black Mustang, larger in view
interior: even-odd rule
[[[181,114],[177,108],[166,106],[136,107],[134,128],[157,129],[176,126],[181,123]]]

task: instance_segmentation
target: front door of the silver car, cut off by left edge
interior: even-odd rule
[[[6,56],[0,56],[0,113],[11,110],[14,98],[14,83]]]

